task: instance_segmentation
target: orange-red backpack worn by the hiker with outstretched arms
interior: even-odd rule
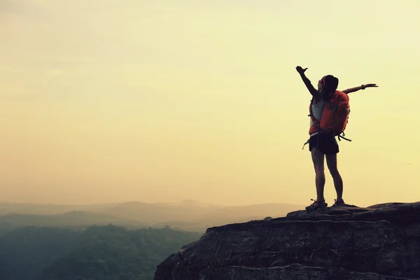
[[[309,105],[309,116],[314,121],[314,125],[309,129],[309,134],[314,132],[332,132],[335,136],[338,136],[339,141],[341,141],[340,138],[346,139],[344,130],[346,130],[346,125],[349,121],[349,95],[336,90],[330,100],[324,101],[320,122],[312,114],[311,104]],[[346,140],[351,141],[350,139]]]

